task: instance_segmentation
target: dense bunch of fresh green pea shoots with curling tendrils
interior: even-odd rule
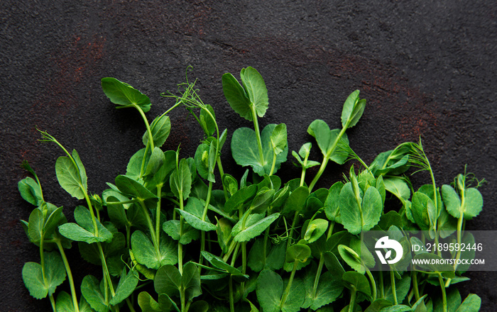
[[[249,167],[240,180],[222,166],[227,130],[219,130],[214,108],[188,79],[178,85],[179,94],[163,94],[175,104],[152,123],[144,114],[148,96],[102,79],[109,100],[116,108],[136,109],[146,131],[126,172],[100,194],[89,193],[78,152],[42,132],[65,153],[55,162],[60,186],[81,203],[71,209],[75,223],[67,223],[62,207],[45,202],[38,177],[24,163],[34,179],[22,179],[18,189],[35,208],[22,225],[40,249],[40,263],[23,268],[31,296],[49,297],[53,311],[479,311],[479,296],[462,301],[452,286],[466,280],[467,266],[411,262],[442,259],[440,252],[414,252],[411,245],[474,243],[464,223],[478,216],[483,199],[469,174],[439,187],[421,142],[403,143],[366,165],[346,135],[366,107],[356,90],[344,102],[342,128],[330,129],[320,119],[308,126],[322,158],[310,160],[312,143],[305,143],[292,152],[300,178],[282,181],[275,173],[287,160],[287,126],[260,130],[269,107],[266,84],[253,67],[241,69],[240,79],[222,77],[226,101],[253,122],[253,128],[234,130],[229,144],[235,162]],[[171,131],[168,113],[179,106],[204,131],[192,157],[180,158],[179,148],[161,149]],[[329,188],[314,189],[330,160],[357,160],[361,167],[351,166]],[[315,177],[306,179],[315,166]],[[408,173],[419,170],[431,181],[415,190]],[[385,211],[386,201],[398,208]],[[402,260],[373,270],[381,264],[378,242],[363,238],[370,230],[395,238]],[[419,230],[422,240],[415,237]],[[88,274],[79,287],[65,256],[73,245],[102,267],[101,276]],[[388,251],[385,258],[394,257]],[[474,252],[448,257],[470,260]],[[71,294],[59,291],[55,298],[66,279]]]

